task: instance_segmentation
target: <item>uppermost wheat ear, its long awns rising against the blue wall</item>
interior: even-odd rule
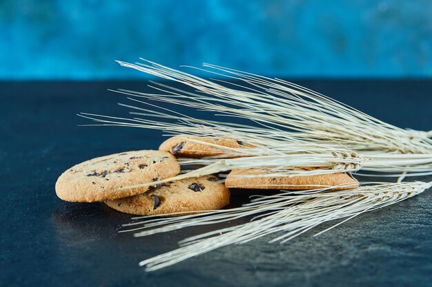
[[[432,141],[429,139],[432,131],[400,129],[293,83],[204,64],[207,70],[199,70],[228,77],[231,81],[242,81],[245,85],[222,80],[212,82],[157,63],[144,61],[146,63],[135,64],[119,61],[119,64],[181,83],[197,92],[188,92],[161,83],[150,85],[159,92],[158,94],[124,90],[119,92],[206,111],[216,111],[226,116],[248,118],[265,125],[267,130],[284,129],[297,132],[286,134],[284,138],[293,135],[307,141],[322,141],[324,138],[331,139],[332,142],[338,140],[355,151],[381,150],[398,153],[431,153],[432,151]],[[225,85],[221,85],[222,83]],[[226,87],[227,85],[237,89]],[[268,138],[272,139],[273,136]]]

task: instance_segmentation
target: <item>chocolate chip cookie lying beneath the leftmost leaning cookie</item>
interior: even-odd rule
[[[219,182],[219,178],[201,176],[167,182],[160,187],[150,188],[145,193],[130,198],[109,200],[106,204],[124,213],[158,215],[222,209],[229,201],[230,190]]]

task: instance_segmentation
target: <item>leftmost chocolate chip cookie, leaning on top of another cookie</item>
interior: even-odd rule
[[[180,166],[166,151],[127,151],[71,167],[55,184],[57,196],[71,202],[98,202],[143,193],[148,187],[118,190],[177,176]]]

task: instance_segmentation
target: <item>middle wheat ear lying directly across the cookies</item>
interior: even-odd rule
[[[397,172],[401,173],[406,169],[412,172],[417,172],[414,174],[420,173],[423,176],[432,173],[431,158],[424,154],[382,154],[375,155],[375,157],[371,158],[363,158],[352,151],[318,153],[316,149],[310,151],[310,153],[279,153],[273,156],[249,156],[244,158],[224,158],[215,160],[186,159],[180,160],[180,162],[182,164],[192,165],[204,164],[205,166],[188,171],[187,173],[181,173],[172,178],[122,187],[119,190],[148,187],[154,184],[163,184],[173,180],[195,178],[232,169],[244,168],[265,168],[266,172],[254,174],[254,177],[317,176],[329,173],[355,172],[361,168],[366,171],[396,172],[393,176],[400,176]],[[409,168],[407,168],[406,165],[409,165]],[[312,169],[299,169],[299,167]],[[278,185],[275,184],[274,188],[277,189],[277,187]]]

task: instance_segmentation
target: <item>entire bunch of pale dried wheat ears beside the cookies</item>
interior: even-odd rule
[[[114,91],[127,95],[135,104],[152,108],[121,104],[133,109],[130,113],[134,115],[133,118],[86,113],[79,116],[95,120],[96,125],[159,129],[168,135],[181,135],[185,140],[224,151],[219,156],[181,159],[184,166],[204,164],[204,167],[174,178],[133,187],[241,168],[265,169],[266,172],[261,176],[313,176],[361,169],[366,173],[400,177],[397,183],[381,183],[349,191],[315,189],[282,192],[257,198],[237,209],[207,211],[204,215],[153,220],[147,220],[146,217],[144,222],[128,224],[130,231],[144,228],[136,236],[255,216],[253,221],[246,224],[186,238],[180,242],[181,247],[177,250],[141,262],[140,265],[146,266],[146,270],[157,270],[215,248],[242,244],[281,231],[284,234],[271,242],[286,242],[323,222],[342,218],[344,222],[366,211],[410,198],[431,187],[431,182],[400,181],[405,176],[432,174],[432,131],[400,129],[310,89],[277,78],[204,64],[206,72],[238,81],[228,83],[224,80],[209,81],[150,61],[119,63],[175,81],[184,85],[184,88],[152,82],[150,87],[155,89],[155,94]],[[148,103],[148,100],[210,111],[215,116],[244,118],[252,124],[193,118]],[[199,137],[206,136],[241,140],[251,147],[235,149],[199,140]],[[123,189],[129,188],[132,187]]]

